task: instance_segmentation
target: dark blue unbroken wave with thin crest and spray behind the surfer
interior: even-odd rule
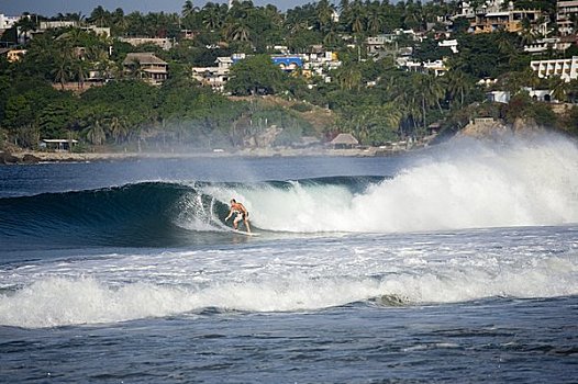
[[[352,193],[382,178],[320,178],[304,187],[340,185]],[[142,182],[98,190],[0,199],[4,250],[75,247],[170,247],[229,236],[226,202],[243,191],[284,191],[294,182],[191,184]],[[241,191],[241,192],[240,192]],[[241,194],[240,194],[241,193]],[[251,203],[251,202],[249,202]]]

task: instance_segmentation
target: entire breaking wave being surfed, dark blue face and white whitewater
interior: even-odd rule
[[[391,178],[146,182],[0,199],[8,248],[178,246],[222,236],[231,197],[267,233],[399,233],[578,222],[578,149],[563,139],[463,143]]]

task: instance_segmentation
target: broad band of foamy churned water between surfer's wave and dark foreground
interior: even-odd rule
[[[577,295],[576,228],[540,230],[364,235],[38,264],[0,274],[4,287],[22,286],[0,295],[0,325],[115,323],[208,307],[319,310],[380,297],[420,305]]]

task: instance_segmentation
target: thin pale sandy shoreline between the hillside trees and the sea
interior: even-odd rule
[[[91,162],[91,161],[124,161],[140,159],[194,159],[194,158],[229,158],[229,157],[378,157],[394,156],[409,149],[384,149],[377,147],[331,149],[331,148],[253,148],[235,151],[190,151],[190,153],[68,153],[23,150],[18,153],[0,153],[0,165],[26,165],[38,162]]]

